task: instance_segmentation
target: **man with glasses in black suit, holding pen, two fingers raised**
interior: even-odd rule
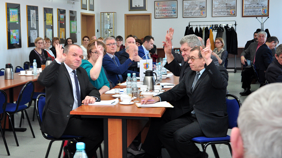
[[[191,141],[198,136],[224,137],[228,129],[226,112],[226,87],[228,72],[217,67],[211,59],[209,39],[207,48],[194,47],[190,50],[188,63],[191,70],[171,90],[156,97],[146,97],[141,104],[158,101],[176,101],[189,98],[189,110],[162,126],[158,137],[171,158],[202,157],[197,146]],[[154,101],[148,101],[153,99]],[[188,104],[188,103],[187,103]]]

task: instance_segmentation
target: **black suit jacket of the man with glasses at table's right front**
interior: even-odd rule
[[[192,92],[195,75],[195,71],[187,72],[179,84],[158,96],[161,101],[177,101],[178,98],[188,97],[190,106],[186,114],[194,109],[205,136],[224,137],[228,129],[226,112],[228,72],[223,66],[217,67],[212,62],[205,67]]]

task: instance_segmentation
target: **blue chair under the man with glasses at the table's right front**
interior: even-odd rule
[[[228,99],[228,97],[233,97],[234,99]],[[237,118],[239,114],[239,108],[241,107],[241,101],[232,94],[226,94],[226,108],[228,113],[228,129],[237,127]],[[215,144],[226,144],[229,148],[230,154],[232,156],[232,149],[229,144],[230,136],[226,137],[216,137],[216,138],[207,138],[207,137],[195,137],[192,138],[192,141],[197,144],[201,144],[203,148],[203,153],[205,153],[207,146],[211,145],[214,152],[214,156],[219,158],[218,152],[216,150]]]

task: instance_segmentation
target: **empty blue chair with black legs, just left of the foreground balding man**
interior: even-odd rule
[[[25,114],[26,114],[26,119],[28,121],[28,125],[31,129],[32,136],[33,136],[33,138],[35,138],[32,127],[31,127],[31,123],[30,123],[29,118],[28,118],[28,114],[26,112],[26,108],[30,107],[30,105],[31,105],[31,101],[32,101],[31,99],[32,99],[33,91],[34,91],[34,83],[33,83],[33,81],[28,81],[22,87],[22,90],[20,91],[20,94],[18,96],[17,103],[16,104],[15,103],[7,103],[6,114],[9,116],[9,120],[10,120],[11,125],[12,125],[10,115],[15,114],[16,112],[24,111]],[[25,104],[28,104],[28,105],[26,106]],[[7,117],[5,117],[4,127],[6,125],[6,118]],[[16,140],[16,144],[17,144],[17,146],[19,146],[18,139],[17,139],[15,129],[14,129],[13,126],[12,126],[12,129],[13,129],[14,137],[15,137],[15,140]]]

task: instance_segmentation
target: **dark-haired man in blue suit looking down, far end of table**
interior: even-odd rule
[[[152,37],[150,35],[145,36],[144,39],[143,39],[143,44],[138,47],[139,57],[143,58],[145,56],[145,54],[147,54],[149,57],[151,57],[149,50],[154,48],[153,44],[154,44],[154,37]],[[144,57],[143,59],[146,59],[146,58]]]

